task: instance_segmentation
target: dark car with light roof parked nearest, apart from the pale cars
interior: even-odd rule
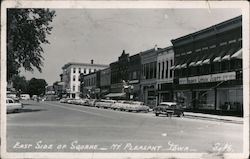
[[[162,102],[153,109],[156,116],[164,114],[167,116],[177,115],[178,117],[184,116],[182,107],[175,102]]]

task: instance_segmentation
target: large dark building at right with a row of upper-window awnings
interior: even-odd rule
[[[242,17],[172,40],[174,99],[187,110],[243,112]]]

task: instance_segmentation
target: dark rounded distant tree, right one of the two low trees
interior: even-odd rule
[[[47,82],[44,79],[32,78],[28,83],[28,92],[32,97],[33,95],[44,95]]]

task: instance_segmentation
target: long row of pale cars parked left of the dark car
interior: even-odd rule
[[[149,107],[143,102],[126,100],[107,100],[107,99],[61,99],[62,103],[91,106],[104,109],[113,109],[128,112],[149,112]]]

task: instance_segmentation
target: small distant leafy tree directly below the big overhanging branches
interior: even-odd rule
[[[27,93],[28,81],[24,76],[15,75],[12,78],[13,88],[17,91],[21,91],[19,93]]]

